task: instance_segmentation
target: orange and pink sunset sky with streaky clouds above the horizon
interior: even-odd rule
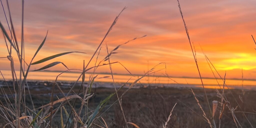
[[[238,0],[180,0],[191,41],[195,45],[198,66],[202,77],[214,77],[202,53],[208,56],[223,77],[256,79],[256,48],[251,35],[256,37],[256,1]],[[7,12],[6,1],[3,1]],[[18,42],[21,37],[21,1],[9,1]],[[25,0],[24,40],[25,60],[30,62],[46,36],[45,45],[34,61],[68,51],[72,53],[44,62],[31,69],[41,68],[50,62],[61,61],[69,68],[82,69],[88,63],[115,17],[117,23],[103,42],[99,60],[109,50],[135,37],[144,38],[121,46],[110,60],[122,63],[132,74],[143,74],[158,63],[166,63],[166,72],[174,77],[199,77],[191,48],[175,0],[109,0],[109,1],[35,1]],[[1,23],[7,29],[3,9]],[[8,13],[7,13],[8,14]],[[201,50],[201,48],[202,50]],[[8,55],[4,38],[0,36],[0,57]],[[17,56],[13,54],[17,62]],[[90,63],[93,66],[96,57]],[[18,65],[15,65],[16,69]],[[165,68],[159,65],[157,69]],[[0,69],[10,69],[10,62],[0,60]],[[128,74],[119,64],[112,65],[113,73]],[[66,70],[62,65],[48,70]],[[97,72],[110,72],[109,66]],[[165,73],[160,71],[158,74]]]

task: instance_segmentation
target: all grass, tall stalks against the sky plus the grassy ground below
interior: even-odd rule
[[[1,1],[2,4],[2,1]],[[10,68],[12,70],[12,84],[8,84],[4,79],[4,76],[1,72],[1,75],[7,85],[7,88],[1,88],[1,100],[0,100],[0,118],[2,127],[214,127],[217,128],[215,118],[217,118],[216,112],[219,111],[219,128],[222,127],[253,127],[255,126],[255,118],[254,114],[256,112],[253,109],[254,101],[250,100],[250,97],[255,96],[254,91],[245,91],[242,89],[242,93],[240,90],[231,90],[228,85],[225,83],[226,74],[224,79],[222,79],[221,75],[218,73],[214,65],[211,63],[209,58],[205,55],[205,58],[208,62],[209,67],[211,68],[212,73],[216,72],[218,77],[223,80],[223,87],[220,89],[216,89],[214,91],[207,90],[204,87],[204,83],[202,81],[202,77],[200,74],[199,66],[196,59],[196,50],[193,42],[191,43],[188,27],[186,26],[184,16],[178,1],[178,7],[180,10],[180,14],[182,16],[182,20],[185,26],[185,31],[188,37],[188,41],[191,47],[191,51],[196,63],[196,67],[198,70],[198,74],[202,84],[202,90],[195,89],[184,89],[177,90],[174,88],[169,89],[133,89],[136,86],[137,82],[144,77],[147,77],[155,72],[165,70],[165,76],[168,76],[166,73],[166,64],[159,63],[153,68],[149,69],[144,73],[144,75],[138,78],[135,81],[130,81],[127,79],[127,82],[123,84],[120,88],[115,86],[115,80],[112,72],[112,65],[119,64],[124,67],[124,69],[132,73],[125,68],[120,62],[111,62],[110,58],[114,54],[118,54],[118,49],[133,41],[140,38],[144,38],[145,36],[141,36],[138,38],[133,38],[116,46],[113,50],[108,49],[106,44],[107,53],[105,58],[100,60],[99,54],[102,49],[102,44],[111,30],[114,28],[114,25],[117,23],[120,15],[126,9],[124,7],[121,12],[115,17],[113,23],[110,28],[106,32],[102,41],[99,43],[99,46],[95,50],[94,54],[91,56],[90,60],[85,63],[83,62],[83,67],[81,69],[69,69],[63,62],[56,61],[50,64],[46,64],[44,67],[30,70],[31,65],[37,65],[39,63],[47,63],[48,60],[55,59],[59,56],[64,56],[67,54],[72,54],[74,52],[80,54],[86,54],[81,51],[71,51],[64,52],[56,55],[52,55],[46,58],[43,58],[38,61],[34,61],[34,58],[37,54],[40,54],[40,49],[47,42],[46,33],[45,38],[41,42],[40,46],[36,50],[33,58],[29,63],[25,61],[25,44],[24,44],[24,0],[22,1],[22,29],[21,29],[21,41],[18,42],[17,35],[15,34],[15,28],[13,25],[13,21],[11,18],[11,12],[9,8],[9,4],[7,1],[7,9],[8,14],[6,15],[5,8],[4,9],[6,22],[8,25],[8,30],[6,30],[0,22],[0,27],[3,33],[3,37],[5,40],[6,48],[8,51],[7,57],[1,57],[1,59],[8,59],[10,61]],[[9,21],[7,20],[9,19]],[[252,36],[253,38],[253,36]],[[254,39],[253,39],[254,40]],[[255,41],[254,41],[255,43]],[[255,43],[256,44],[256,43]],[[193,45],[193,46],[192,46]],[[97,55],[97,57],[96,57]],[[13,57],[17,57],[19,62],[15,63]],[[92,63],[92,60],[96,58],[93,67],[89,67],[89,64]],[[51,86],[51,94],[46,96],[40,96],[39,99],[44,99],[44,105],[41,105],[39,102],[43,101],[35,101],[35,98],[38,95],[35,94],[35,90],[30,90],[27,76],[31,71],[40,71],[44,69],[48,69],[50,67],[54,67],[55,65],[62,64],[67,68],[66,71],[63,71],[58,76],[56,76],[56,80],[52,83]],[[19,65],[20,74],[16,73],[14,65]],[[157,67],[164,66],[164,68],[160,70],[156,70]],[[106,89],[108,93],[103,91],[93,91],[92,84],[94,80],[97,78],[95,72],[98,67],[101,66],[109,66],[111,71],[111,77],[113,80],[114,90]],[[212,70],[212,67],[214,70]],[[77,81],[73,83],[70,89],[63,89],[62,86],[59,85],[58,77],[61,76],[65,72],[72,71],[80,71],[80,76]],[[89,76],[89,81],[85,81],[85,74],[88,71],[93,71],[93,73]],[[214,74],[214,77],[217,80],[217,77]],[[243,76],[242,76],[243,79]],[[78,81],[81,80],[81,84],[77,86]],[[172,80],[172,79],[170,79]],[[148,80],[149,81],[149,80]],[[174,81],[174,80],[173,80]],[[176,81],[174,81],[176,82]],[[86,84],[87,83],[87,84]],[[129,88],[123,88],[126,84],[129,83]],[[177,82],[176,82],[177,83]],[[150,83],[148,83],[150,84]],[[179,83],[177,83],[179,84]],[[226,88],[229,92],[226,92]],[[104,89],[101,89],[104,90]],[[188,91],[186,91],[188,90]],[[186,93],[185,93],[186,92]],[[97,94],[100,93],[100,94]],[[197,94],[196,94],[197,93]],[[125,95],[126,94],[126,95]],[[173,95],[172,95],[173,94]],[[202,95],[204,94],[204,98]],[[241,94],[241,95],[240,95]],[[95,100],[98,98],[97,96],[101,95],[100,100]],[[116,95],[116,97],[113,97]],[[172,95],[172,96],[170,96]],[[135,97],[139,96],[139,97]],[[185,98],[177,98],[183,97]],[[145,99],[149,98],[150,100],[141,99],[141,97],[145,97]],[[33,101],[34,99],[34,101]],[[161,99],[161,100],[159,100]],[[173,100],[175,99],[175,100]],[[188,100],[195,99],[196,103],[191,104],[192,102]],[[216,99],[219,99],[216,100]],[[237,100],[239,99],[239,100]],[[96,102],[94,102],[96,101]],[[211,104],[210,101],[213,101]],[[246,102],[247,101],[247,102]],[[118,102],[118,105],[116,105]],[[175,102],[175,103],[174,103]],[[177,103],[178,102],[178,103]],[[216,103],[217,102],[217,103]],[[218,106],[220,103],[220,106]],[[198,107],[198,106],[199,107]],[[172,106],[172,107],[170,107]],[[113,109],[114,108],[114,109]],[[171,109],[172,108],[172,109]],[[205,110],[205,108],[209,108],[209,110]],[[213,109],[212,109],[213,108]],[[228,108],[225,109],[225,108]],[[170,110],[171,109],[171,110]],[[112,113],[108,111],[112,110]],[[170,113],[169,113],[170,112]],[[201,114],[198,114],[201,112]],[[107,116],[111,115],[112,116]],[[253,116],[252,116],[253,115]],[[111,119],[113,119],[111,121]],[[169,124],[169,125],[168,125]]]

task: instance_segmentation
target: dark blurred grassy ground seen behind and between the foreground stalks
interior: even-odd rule
[[[95,84],[98,84],[98,83],[95,83]],[[30,85],[30,87],[31,86],[33,85]],[[45,87],[44,85],[41,86],[41,88],[44,88],[44,87]],[[61,89],[63,90],[64,93],[67,93],[69,91],[64,87],[61,87]],[[7,87],[5,87],[5,90],[7,93],[9,93]],[[74,88],[74,92],[78,92],[78,90],[79,90],[79,86],[76,86]],[[50,102],[51,94],[48,94],[49,92],[38,91],[35,89],[33,90],[31,89],[30,91],[32,93],[32,98],[34,99],[33,102],[36,108],[40,107],[41,104],[45,105]],[[124,91],[126,91],[125,88],[120,89],[118,91],[119,95],[121,96]],[[199,100],[199,103],[204,109],[206,115],[209,115],[210,112],[207,109],[207,103],[205,102],[206,100],[204,99],[204,90],[201,88],[194,88],[193,91],[195,94],[198,95],[197,99]],[[218,89],[218,91],[221,92],[220,89]],[[242,90],[239,90],[239,89],[232,89],[231,91],[234,94],[235,98],[239,98],[239,94],[242,94]],[[115,90],[113,88],[112,89],[111,88],[96,88],[96,89],[93,88],[92,93],[94,94],[89,99],[89,103],[88,103],[89,108],[91,110],[95,110],[97,105],[102,100],[104,100],[106,97],[108,97],[110,94],[114,92]],[[221,98],[218,97],[219,95],[216,95],[216,90],[206,89],[206,92],[207,92],[209,101],[212,101],[212,100],[221,101]],[[226,93],[226,97],[230,99],[229,100],[230,104],[231,105],[236,104],[236,101],[232,98],[232,95],[229,92],[225,92],[225,93]],[[245,93],[246,93],[245,98],[247,100],[244,101],[245,102],[244,106],[241,106],[243,110],[240,110],[237,108],[234,113],[236,114],[237,119],[239,120],[239,123],[241,124],[242,127],[250,127],[250,124],[248,123],[246,118],[244,118],[241,111],[250,112],[245,114],[247,115],[252,125],[255,126],[256,120],[254,117],[256,112],[254,111],[256,110],[254,106],[256,102],[251,97],[256,96],[256,91],[245,90]],[[27,100],[28,107],[33,108],[31,101],[29,101],[28,95],[29,94],[27,92],[26,100]],[[63,97],[61,92],[57,89],[55,90],[55,95],[56,96],[54,97],[54,100],[58,100],[57,97],[59,98]],[[41,97],[44,97],[45,99],[42,99]],[[0,100],[4,101],[3,98],[0,98]],[[5,102],[3,103],[5,104]],[[74,103],[74,100],[72,100],[71,103]],[[139,127],[163,127],[163,124],[165,124],[165,122],[167,121],[168,116],[172,111],[172,108],[175,105],[175,103],[177,103],[177,105],[175,106],[172,112],[172,115],[170,116],[170,120],[166,126],[167,128],[168,127],[209,127],[208,122],[202,116],[203,112],[198,107],[197,101],[195,100],[193,93],[189,91],[189,88],[188,90],[185,88],[131,89],[127,93],[125,93],[125,95],[122,96],[122,106],[123,106],[126,120],[128,122],[132,122],[138,125]],[[239,101],[239,103],[242,104],[242,101]],[[56,104],[56,105],[58,106],[59,104]],[[54,109],[57,108],[57,106],[54,106]],[[76,105],[74,106],[74,108],[77,111],[79,107],[80,107],[80,102],[76,103]],[[65,106],[65,109],[68,112],[71,110],[70,106]],[[214,116],[215,120],[219,120],[219,112],[220,112],[220,103],[218,103],[218,108]],[[66,123],[67,117],[63,108],[62,108],[62,115],[63,115],[63,121],[64,123]],[[122,111],[120,110],[120,105],[118,103],[118,99],[116,96],[110,99],[109,104],[107,104],[102,109],[102,111],[99,112],[97,116],[101,116],[105,120],[109,128],[125,127],[125,121],[123,119]],[[207,116],[207,117],[209,119],[211,118],[210,116]],[[61,118],[60,112],[58,112],[55,115],[55,118],[53,118],[52,127],[61,127],[60,118]],[[223,112],[221,122],[222,122],[221,127],[236,127],[236,124],[233,121],[232,113],[230,113],[227,106]],[[95,122],[95,124],[105,127],[103,125],[105,123],[104,121],[102,121],[101,118],[99,118]],[[216,122],[216,125],[219,126],[219,121]],[[128,126],[133,127],[130,124]],[[94,125],[93,127],[97,127],[97,126]]]

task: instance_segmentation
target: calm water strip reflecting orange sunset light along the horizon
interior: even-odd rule
[[[12,74],[10,70],[1,70],[3,73],[3,76],[6,80],[12,79]],[[16,72],[17,77],[19,77],[19,71]],[[39,80],[39,81],[54,81],[56,79],[56,76],[60,74],[61,72],[49,72],[49,71],[38,71],[38,72],[29,72],[27,80]],[[81,73],[77,72],[66,72],[61,74],[61,76],[58,77],[58,81],[76,81]],[[98,77],[95,79],[97,82],[112,82],[111,74],[101,74],[96,73]],[[102,78],[106,77],[108,78]],[[131,78],[129,81],[134,82],[136,79],[140,78],[141,76],[131,76],[131,75],[123,75],[123,74],[114,74],[114,80],[115,82],[119,83],[125,83],[127,80]],[[100,78],[100,79],[99,79]],[[86,74],[86,80],[89,79],[89,74]],[[202,87],[201,81],[198,78],[171,78],[178,82],[181,85],[176,84],[174,81],[168,79],[165,76],[146,76],[143,79],[141,79],[138,83],[144,83],[145,85],[151,84],[151,85],[164,85],[164,86],[177,86],[177,87]],[[0,76],[0,80],[3,80],[3,77]],[[205,84],[206,88],[219,88],[219,85],[216,81],[216,79],[203,79],[203,82]],[[223,81],[221,79],[218,79],[218,82],[221,86],[223,86]],[[236,80],[236,79],[227,79],[226,84],[230,88],[242,88],[242,80]],[[246,89],[256,89],[256,81],[255,80],[244,80],[243,81],[244,88]]]

